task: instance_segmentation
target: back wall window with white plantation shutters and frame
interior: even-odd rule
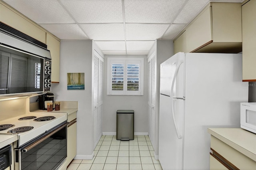
[[[143,95],[143,58],[108,58],[108,95]]]

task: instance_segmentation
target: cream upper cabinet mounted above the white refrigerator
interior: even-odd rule
[[[241,52],[241,14],[241,3],[210,2],[174,41],[174,52]]]

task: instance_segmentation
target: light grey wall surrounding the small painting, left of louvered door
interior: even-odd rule
[[[78,101],[77,157],[93,154],[92,46],[88,41],[60,42],[60,83],[52,83],[55,101]],[[84,73],[85,90],[67,90],[67,73]],[[76,158],[77,158],[76,157]]]

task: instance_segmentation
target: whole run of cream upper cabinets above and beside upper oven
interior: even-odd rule
[[[0,22],[47,45],[52,57],[52,83],[59,83],[60,40],[3,1],[0,1]]]

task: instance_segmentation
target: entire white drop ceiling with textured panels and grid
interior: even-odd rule
[[[209,2],[244,0],[3,0],[60,40],[94,40],[106,55],[147,55]]]

